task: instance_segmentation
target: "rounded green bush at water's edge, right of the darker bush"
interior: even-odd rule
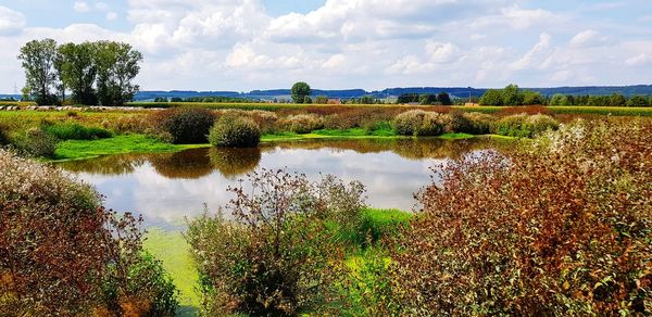
[[[224,116],[211,129],[209,141],[215,147],[254,148],[261,141],[261,129],[252,119]]]

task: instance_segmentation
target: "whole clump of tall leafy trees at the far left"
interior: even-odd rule
[[[130,45],[96,41],[58,45],[53,39],[33,40],[21,48],[25,69],[24,100],[37,104],[71,102],[85,105],[124,105],[139,86],[142,54]]]

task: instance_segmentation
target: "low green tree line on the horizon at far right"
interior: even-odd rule
[[[634,96],[630,98],[622,93],[611,96],[574,96],[554,94],[543,97],[536,91],[519,89],[516,85],[509,85],[504,89],[489,89],[479,99],[480,105],[586,105],[586,106],[650,106],[652,96]]]

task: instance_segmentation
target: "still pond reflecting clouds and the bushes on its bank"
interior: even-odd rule
[[[368,205],[410,211],[415,207],[414,193],[431,181],[430,168],[497,147],[488,139],[317,140],[111,155],[59,166],[93,185],[108,208],[142,214],[146,226],[174,229],[184,226],[186,217],[204,213],[204,204],[213,212],[227,204],[231,195],[226,189],[258,168],[285,168],[313,180],[321,174],[360,180]]]

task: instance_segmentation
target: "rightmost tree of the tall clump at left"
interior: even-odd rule
[[[140,72],[142,54],[130,45],[111,41],[96,43],[98,98],[103,105],[123,105],[134,100],[140,87],[131,80]]]

